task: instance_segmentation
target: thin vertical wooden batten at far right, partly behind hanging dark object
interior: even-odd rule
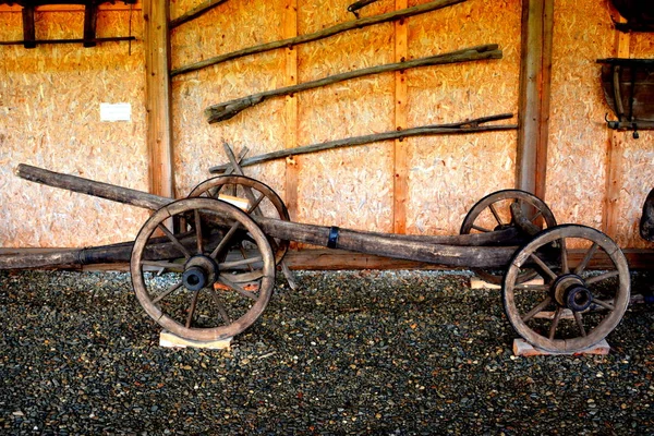
[[[619,13],[615,13],[617,23],[626,20]],[[630,35],[628,33],[615,32],[615,51],[617,58],[629,58]],[[606,194],[604,197],[604,209],[602,211],[602,231],[609,238],[615,239],[618,233],[618,199],[622,180],[622,154],[625,145],[625,132],[609,130],[608,149],[606,153]]]

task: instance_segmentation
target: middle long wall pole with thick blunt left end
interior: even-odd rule
[[[451,51],[444,55],[436,55],[428,58],[413,59],[405,62],[387,63],[362,70],[349,71],[330,75],[317,81],[305,82],[294,86],[286,86],[279,89],[266,90],[264,93],[253,94],[246,97],[237,98],[227,102],[209,106],[205,109],[205,116],[209,123],[216,123],[237,116],[242,110],[256,106],[268,98],[292,95],[307,89],[331,85],[352,78],[364,77],[373,74],[409,70],[420,66],[441,65],[447,63],[471,62],[483,59],[501,59],[502,52],[497,44],[485,46],[469,47],[462,50]]]

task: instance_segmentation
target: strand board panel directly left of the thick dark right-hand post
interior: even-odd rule
[[[468,1],[411,17],[410,59],[482,44],[499,44],[504,58],[408,71],[408,126],[517,113],[520,17],[520,1]],[[458,233],[476,201],[514,186],[514,132],[408,142],[408,233]]]

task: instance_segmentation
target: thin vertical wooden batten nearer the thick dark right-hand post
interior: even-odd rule
[[[396,0],[396,10],[407,8],[407,0]],[[407,22],[395,23],[395,62],[407,60]],[[407,73],[395,73],[395,128],[407,129]],[[393,233],[407,233],[407,196],[409,192],[408,140],[396,140],[393,146]]]

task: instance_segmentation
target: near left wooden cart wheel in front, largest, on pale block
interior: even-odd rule
[[[182,232],[166,228],[172,220],[184,222]],[[270,300],[275,269],[268,239],[252,218],[210,198],[157,210],[138,232],[131,259],[145,312],[169,331],[203,341],[250,327]]]

